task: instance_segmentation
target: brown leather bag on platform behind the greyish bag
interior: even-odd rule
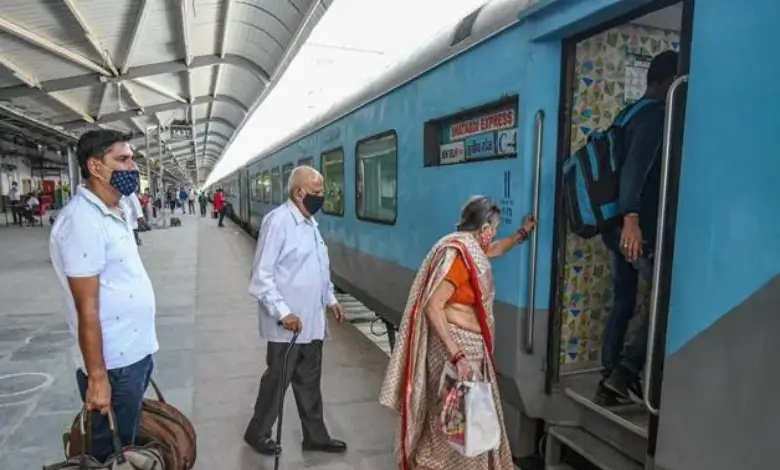
[[[165,401],[160,388],[153,380],[151,385],[157,400],[144,398],[136,444],[161,443],[165,470],[190,470],[195,466],[197,457],[195,428],[181,411]],[[87,436],[90,429],[91,426],[87,427]],[[77,449],[81,449],[82,441],[78,416],[73,422],[70,433],[63,436],[63,441],[65,455],[68,457],[78,455]],[[90,441],[91,439],[87,437],[87,444]]]

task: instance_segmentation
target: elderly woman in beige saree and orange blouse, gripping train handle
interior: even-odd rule
[[[469,199],[457,231],[433,246],[412,284],[380,394],[383,405],[401,414],[396,457],[403,470],[514,468],[492,362],[490,258],[523,243],[536,221],[528,216],[517,233],[494,241],[500,221],[501,209],[488,198]],[[438,388],[448,361],[459,379],[478,372],[492,384],[502,431],[496,450],[469,458],[446,442]]]

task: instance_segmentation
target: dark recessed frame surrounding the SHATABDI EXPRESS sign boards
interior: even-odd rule
[[[444,145],[442,141],[442,133],[444,129],[459,121],[466,121],[476,118],[478,116],[484,116],[487,114],[504,111],[511,109],[515,113],[515,152],[506,155],[494,155],[485,158],[473,158],[464,159],[460,162],[441,163],[441,146]],[[498,131],[495,131],[498,132]],[[495,160],[508,160],[513,158],[519,158],[519,154],[522,151],[522,142],[517,143],[520,140],[522,134],[522,119],[520,116],[520,96],[517,94],[504,95],[497,100],[484,103],[473,108],[465,109],[457,113],[449,114],[446,116],[431,119],[423,123],[423,167],[451,167],[454,165],[468,165],[481,162],[489,162]]]

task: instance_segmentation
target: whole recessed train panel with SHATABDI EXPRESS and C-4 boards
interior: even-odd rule
[[[425,123],[425,166],[517,157],[517,96]]]

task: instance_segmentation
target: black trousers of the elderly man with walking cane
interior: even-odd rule
[[[271,437],[271,428],[279,416],[279,393],[282,381],[285,380],[285,391],[292,383],[303,427],[303,440],[326,443],[330,436],[322,417],[322,341],[293,346],[287,360],[287,373],[283,374],[282,362],[288,347],[288,343],[268,343],[267,368],[260,379],[255,413],[247,427],[246,438],[263,441]]]

